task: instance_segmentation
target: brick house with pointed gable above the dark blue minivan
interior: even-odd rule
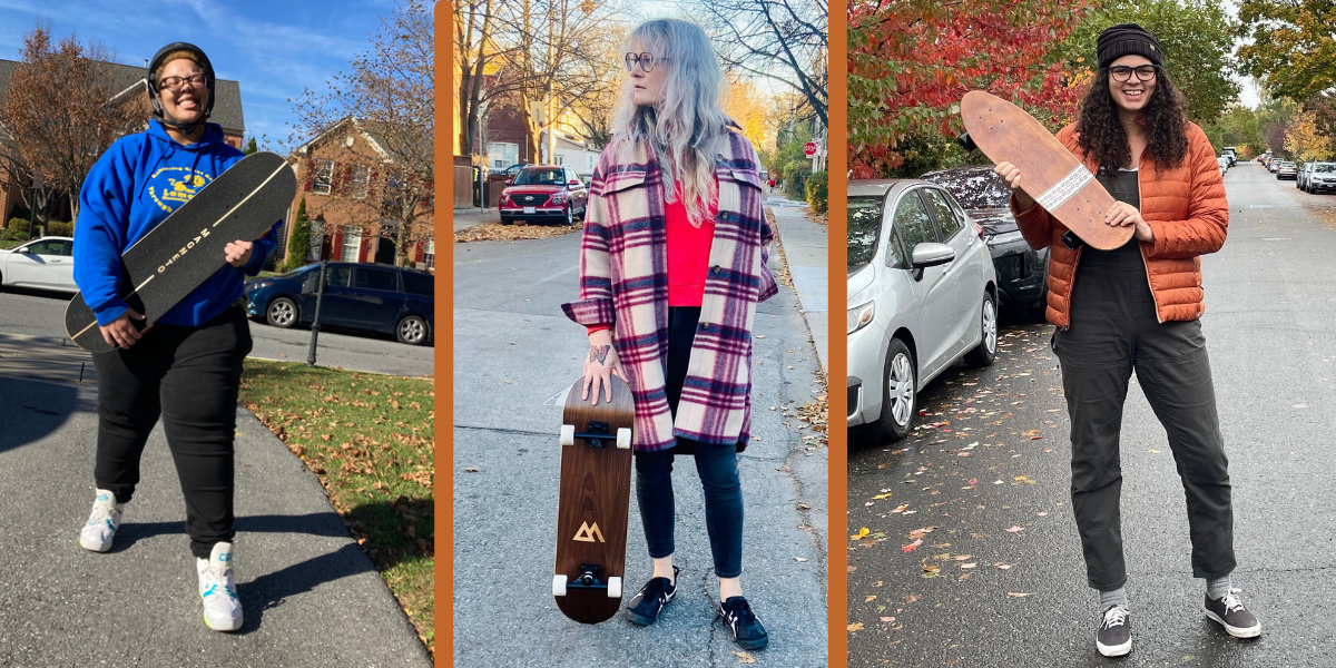
[[[311,220],[311,254],[309,261],[377,262],[393,265],[394,239],[381,232],[398,223],[378,219],[373,198],[393,188],[393,160],[377,139],[375,124],[346,118],[325,134],[299,146],[289,162],[297,171],[297,196],[287,220],[297,219],[297,210],[306,199],[306,216]],[[422,142],[430,143],[430,138]],[[413,222],[414,240],[405,254],[409,266],[436,271],[436,219],[432,182],[418,204],[425,211]],[[283,231],[281,257],[291,236]]]

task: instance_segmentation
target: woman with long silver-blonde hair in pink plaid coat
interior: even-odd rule
[[[737,453],[751,424],[751,330],[775,295],[774,236],[759,159],[720,107],[723,71],[696,24],[657,19],[625,41],[628,80],[589,187],[580,299],[562,305],[589,335],[584,398],[611,398],[611,374],[636,405],[636,500],[653,576],[627,617],[672,601],[673,456],[695,457],[719,576],[717,613],[747,649],[764,627],[741,595]]]

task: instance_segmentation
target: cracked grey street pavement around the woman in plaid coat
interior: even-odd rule
[[[695,466],[673,480],[679,596],[649,628],[623,615],[570,621],[552,599],[562,391],[588,343],[560,303],[577,295],[580,236],[454,246],[454,664],[736,665],[715,621]],[[775,259],[774,262],[778,262]],[[755,321],[752,433],[740,457],[743,591],[770,632],[756,665],[827,665],[827,453],[786,415],[820,393],[818,358],[791,289]],[[632,504],[625,599],[649,577]]]

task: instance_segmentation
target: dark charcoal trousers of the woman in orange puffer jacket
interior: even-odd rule
[[[1118,436],[1133,370],[1182,478],[1192,573],[1225,576],[1234,569],[1229,462],[1201,322],[1157,321],[1138,250],[1090,251],[1082,248],[1077,266],[1070,329],[1053,337],[1071,418],[1071,508],[1090,587],[1112,591],[1128,580]]]

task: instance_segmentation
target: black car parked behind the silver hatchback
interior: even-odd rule
[[[1049,297],[1049,248],[1034,250],[1021,236],[1007,200],[1011,188],[993,167],[957,167],[921,176],[941,184],[983,228],[998,275],[998,302],[1031,319],[1043,319]]]

